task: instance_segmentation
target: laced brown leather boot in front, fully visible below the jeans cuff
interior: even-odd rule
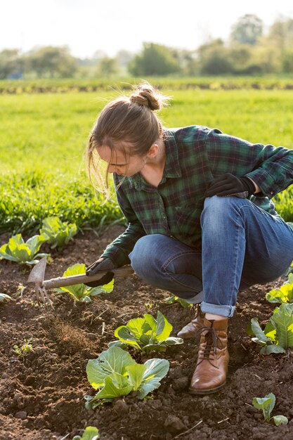
[[[228,318],[208,321],[200,329],[200,349],[189,391],[211,394],[226,384],[229,354],[227,349]]]

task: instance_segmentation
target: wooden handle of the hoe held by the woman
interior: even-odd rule
[[[67,285],[90,283],[91,281],[100,280],[106,273],[113,272],[114,278],[121,276],[128,276],[134,273],[134,269],[131,266],[122,266],[110,271],[98,272],[92,276],[86,275],[72,275],[72,276],[60,276],[58,278],[51,278],[51,280],[45,280],[42,287],[45,289],[53,289],[53,287],[65,287]]]

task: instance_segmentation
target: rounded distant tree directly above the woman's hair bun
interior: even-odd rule
[[[155,43],[144,43],[143,51],[131,60],[128,68],[134,76],[169,75],[181,70],[171,49]]]

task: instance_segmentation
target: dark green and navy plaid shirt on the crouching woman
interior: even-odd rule
[[[129,263],[136,241],[146,234],[169,235],[200,249],[204,191],[221,174],[251,177],[262,193],[250,200],[270,214],[277,214],[271,198],[293,183],[293,150],[287,148],[252,144],[200,126],[167,129],[164,143],[166,164],[157,188],[139,173],[126,178],[113,174],[129,226],[102,256],[118,266]]]

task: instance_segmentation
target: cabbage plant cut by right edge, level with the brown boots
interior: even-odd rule
[[[252,318],[249,334],[254,334],[252,340],[261,345],[261,354],[285,353],[293,347],[293,304],[281,304],[273,311],[270,321],[261,330],[257,318]]]

